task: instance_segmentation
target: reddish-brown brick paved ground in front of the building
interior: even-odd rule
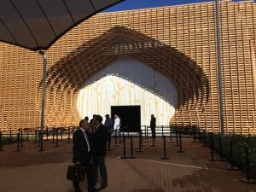
[[[127,155],[131,154],[127,141]],[[119,159],[122,144],[108,152],[108,189],[106,192],[256,192],[256,184],[241,183],[241,172],[226,170],[223,161],[209,161],[209,148],[192,139],[183,140],[184,153],[177,153],[175,143],[167,143],[169,160],[163,156],[163,140],[157,147],[145,143],[143,152],[134,152],[136,159]],[[138,149],[134,141],[135,150]],[[15,144],[4,146],[0,152],[0,192],[73,192],[66,179],[71,165],[72,144],[60,142],[60,147],[45,142],[45,151],[38,152],[36,144],[26,142],[21,152]],[[218,157],[216,157],[218,159]],[[100,183],[98,183],[100,186]],[[86,183],[81,183],[86,191]]]

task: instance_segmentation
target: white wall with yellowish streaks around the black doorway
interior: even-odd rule
[[[153,113],[157,125],[169,125],[177,106],[177,88],[142,61],[121,56],[91,77],[78,97],[81,118],[110,114],[110,107],[118,105],[140,105],[142,125],[149,125]]]

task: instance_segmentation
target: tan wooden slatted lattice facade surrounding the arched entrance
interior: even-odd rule
[[[48,51],[45,124],[77,125],[84,82],[119,55],[131,55],[176,84],[173,125],[219,131],[214,3],[102,13]],[[256,4],[220,3],[226,132],[256,133]],[[40,125],[42,58],[0,44],[0,130]]]

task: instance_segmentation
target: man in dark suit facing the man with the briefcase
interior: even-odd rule
[[[108,174],[105,165],[108,137],[108,129],[102,125],[102,116],[96,115],[96,130],[92,135],[92,166],[94,170],[94,185],[96,185],[97,182],[98,169],[100,170],[102,178],[102,186],[100,189],[105,189],[108,186]]]

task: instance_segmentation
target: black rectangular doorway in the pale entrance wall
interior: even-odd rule
[[[141,106],[111,106],[111,117],[119,115],[121,131],[139,132],[141,130]]]

